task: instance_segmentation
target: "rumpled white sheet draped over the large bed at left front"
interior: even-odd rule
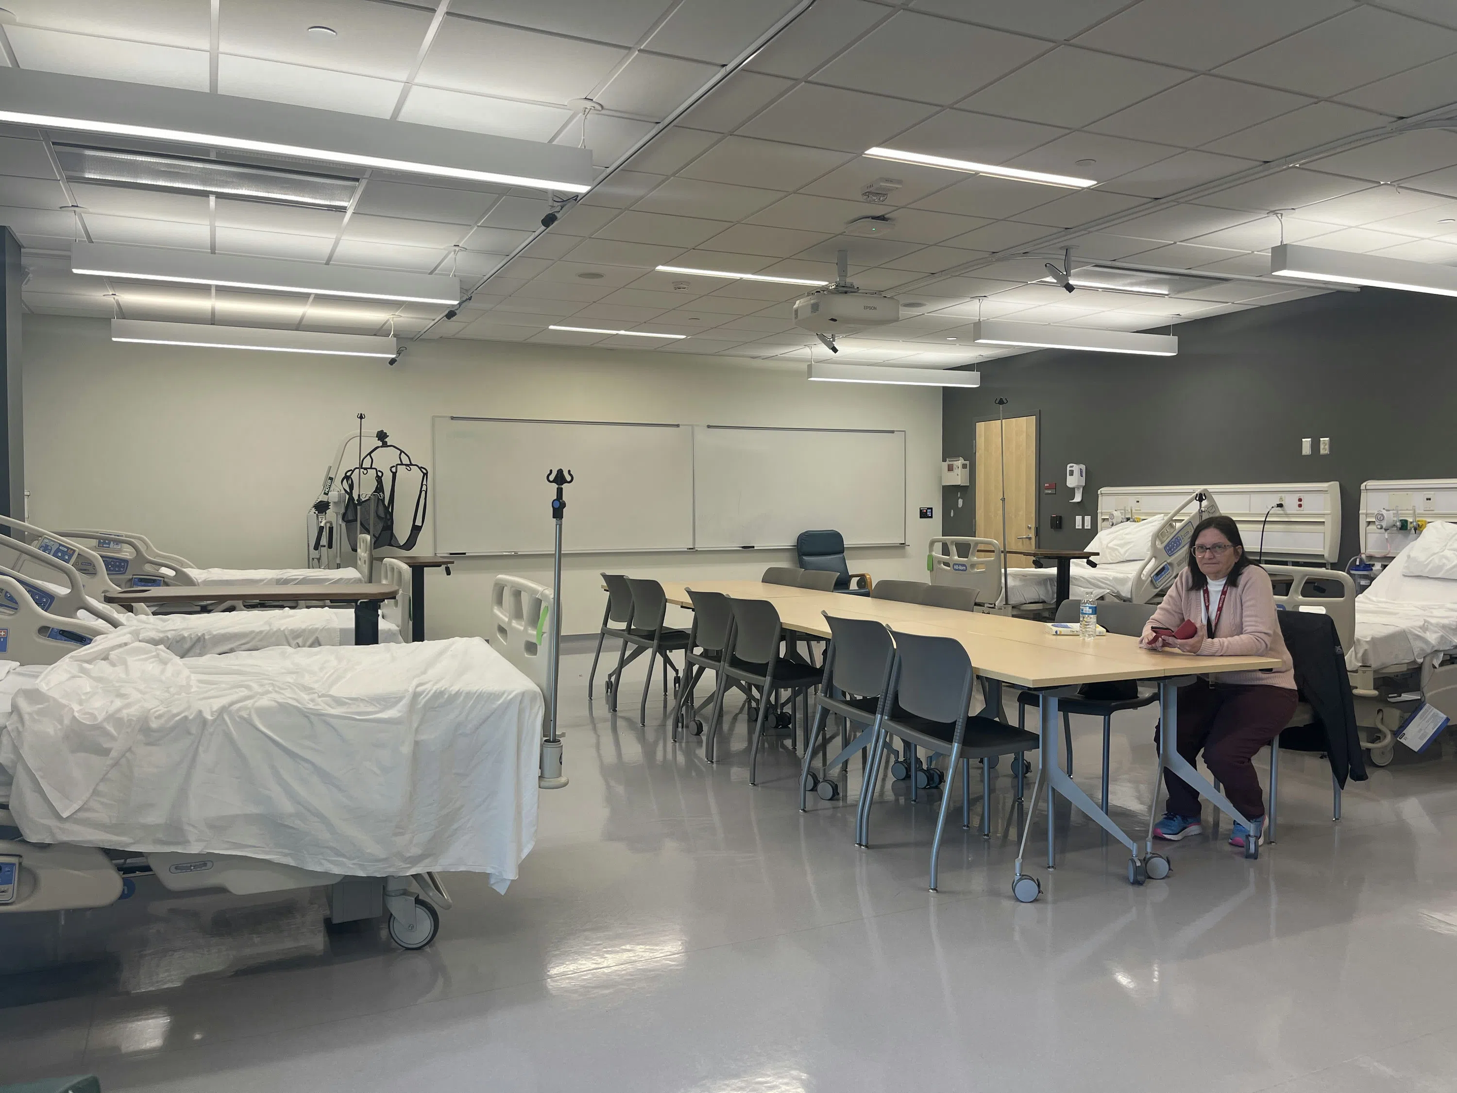
[[[182,660],[119,632],[15,692],[0,765],[32,841],[504,890],[536,837],[543,711],[481,638]]]

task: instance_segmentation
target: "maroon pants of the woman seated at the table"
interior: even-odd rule
[[[1260,780],[1250,759],[1279,736],[1295,713],[1295,691],[1265,683],[1209,683],[1196,679],[1179,689],[1179,753],[1190,764],[1203,751],[1203,764],[1224,796],[1249,819],[1265,815]],[[1158,729],[1154,729],[1158,746]],[[1169,812],[1198,816],[1199,794],[1173,771],[1164,771]]]

